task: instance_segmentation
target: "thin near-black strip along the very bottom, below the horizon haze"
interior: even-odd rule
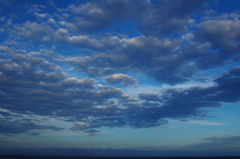
[[[1,156],[0,159],[240,159],[239,157],[66,157],[66,156]]]

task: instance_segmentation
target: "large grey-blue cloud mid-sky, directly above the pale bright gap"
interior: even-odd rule
[[[184,62],[183,55],[174,53],[178,43],[154,37],[121,39],[114,54],[109,51],[91,57],[68,58],[67,62],[93,77],[105,75],[106,69],[119,73],[141,71],[158,82],[175,84],[188,80],[194,72],[189,63]]]

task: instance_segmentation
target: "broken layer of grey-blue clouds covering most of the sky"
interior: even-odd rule
[[[238,12],[211,14],[202,0],[0,5],[2,134],[151,128],[240,101]],[[29,18],[18,21],[14,7]],[[169,87],[131,96],[124,88],[139,84],[134,75]],[[176,87],[191,81],[212,83]],[[31,115],[71,126],[25,120]]]

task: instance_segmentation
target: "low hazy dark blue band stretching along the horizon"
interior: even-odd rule
[[[136,149],[93,148],[2,148],[0,155],[15,156],[65,156],[65,157],[238,157],[240,152],[214,151],[157,151]]]

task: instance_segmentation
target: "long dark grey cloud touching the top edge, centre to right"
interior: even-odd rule
[[[191,13],[200,8],[205,1],[101,1],[70,5],[69,11],[75,13],[73,24],[80,31],[96,31],[131,20],[140,23],[140,31],[145,35],[162,35],[186,31],[191,24]],[[166,14],[167,13],[167,14]],[[138,28],[139,29],[139,28]],[[149,32],[148,30],[151,30]]]

